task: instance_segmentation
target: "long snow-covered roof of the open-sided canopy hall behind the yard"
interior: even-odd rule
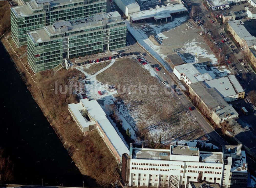
[[[147,19],[147,18],[163,19],[163,18],[171,17],[170,14],[173,14],[176,12],[182,12],[182,11],[188,11],[188,10],[183,4],[179,3],[179,4],[155,8],[151,10],[133,12],[133,13],[130,13],[129,15],[133,21]]]

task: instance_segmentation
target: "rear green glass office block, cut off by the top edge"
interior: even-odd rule
[[[26,44],[28,31],[62,20],[78,20],[106,12],[106,0],[31,0],[11,8],[11,31],[14,43]]]

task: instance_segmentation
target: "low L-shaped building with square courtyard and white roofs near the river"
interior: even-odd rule
[[[122,162],[122,154],[129,153],[129,150],[97,100],[81,99],[77,104],[68,104],[68,110],[83,133],[97,129],[117,162]]]

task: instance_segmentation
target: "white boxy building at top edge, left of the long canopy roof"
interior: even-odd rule
[[[115,4],[122,10],[125,16],[132,12],[139,12],[140,5],[134,0],[114,0]]]

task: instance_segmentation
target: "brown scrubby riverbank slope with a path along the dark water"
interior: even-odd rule
[[[1,42],[15,63],[16,69],[31,95],[80,172],[84,176],[95,179],[99,186],[108,186],[119,179],[116,160],[97,131],[92,131],[84,136],[72,120],[67,110],[67,104],[76,103],[78,100],[71,92],[65,94],[61,94],[59,91],[55,92],[56,88],[60,88],[60,86],[61,88],[65,85],[69,86],[69,78],[76,76],[78,79],[79,76],[84,75],[75,69],[68,71],[62,69],[56,73],[50,70],[35,75],[27,64],[25,46],[17,49],[11,40],[10,33],[2,37]]]

